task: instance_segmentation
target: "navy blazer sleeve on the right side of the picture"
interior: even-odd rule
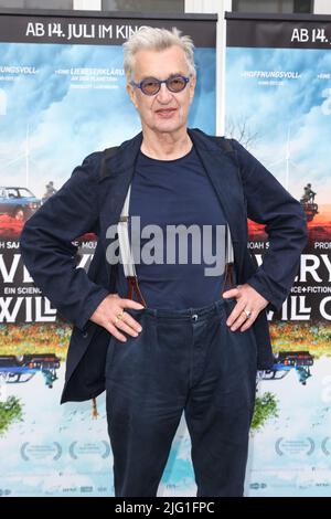
[[[298,274],[308,231],[301,204],[239,142],[237,153],[247,203],[247,216],[266,225],[269,248],[263,263],[246,283],[279,310]]]

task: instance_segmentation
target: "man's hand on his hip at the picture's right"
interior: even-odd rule
[[[224,298],[236,298],[236,306],[226,320],[226,325],[231,327],[232,331],[238,328],[241,328],[241,331],[247,330],[253,325],[260,310],[266,308],[269,303],[247,283],[224,292],[222,296]],[[250,311],[249,316],[247,316],[244,310],[247,313]]]

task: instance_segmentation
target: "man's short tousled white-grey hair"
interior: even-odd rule
[[[134,80],[135,74],[135,55],[140,50],[149,51],[163,51],[170,46],[178,45],[181,47],[186,57],[189,73],[194,75],[194,43],[191,36],[182,36],[182,31],[173,27],[171,31],[168,29],[142,27],[139,31],[135,32],[124,46],[124,68],[128,83]]]

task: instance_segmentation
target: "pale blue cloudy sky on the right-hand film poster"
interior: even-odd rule
[[[263,78],[257,76],[258,71],[290,72],[293,77]],[[237,138],[245,121],[246,134],[256,134],[249,150],[296,198],[311,182],[320,203],[330,203],[331,194],[327,160],[331,141],[330,71],[329,50],[229,47],[226,51],[227,134],[235,127]]]

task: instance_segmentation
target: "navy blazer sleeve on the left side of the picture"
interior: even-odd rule
[[[97,174],[100,153],[92,153],[25,223],[20,250],[36,286],[72,324],[84,329],[108,290],[76,267],[72,241],[98,230]]]

